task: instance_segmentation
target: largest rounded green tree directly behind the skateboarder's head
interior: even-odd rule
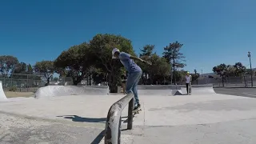
[[[97,34],[90,40],[90,48],[94,55],[96,67],[105,71],[108,75],[110,92],[118,91],[118,78],[122,74],[122,64],[117,59],[112,59],[111,51],[116,47],[121,51],[134,55],[131,41],[121,35]]]

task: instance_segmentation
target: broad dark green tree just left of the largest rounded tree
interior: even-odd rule
[[[86,42],[64,50],[54,61],[56,72],[61,76],[70,76],[75,86],[85,78],[93,65],[94,59],[90,52],[90,45]]]

